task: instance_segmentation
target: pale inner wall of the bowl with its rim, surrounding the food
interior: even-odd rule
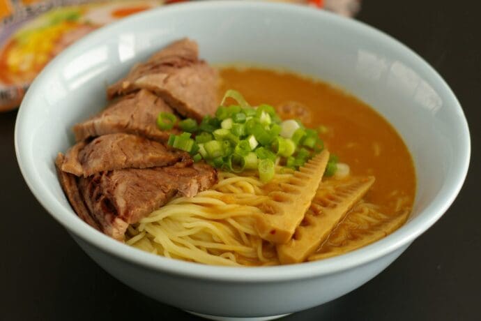
[[[404,45],[358,22],[297,6],[190,3],[130,17],[72,45],[38,76],[20,107],[15,139],[22,173],[44,207],[82,238],[144,255],[109,243],[75,216],[54,158],[72,144],[71,126],[105,106],[107,84],[184,36],[197,40],[201,57],[211,63],[286,68],[335,84],[397,128],[415,162],[415,207],[402,229],[362,249],[365,257],[412,241],[459,192],[469,160],[466,119],[441,77]],[[360,259],[356,252],[348,254],[349,262]]]

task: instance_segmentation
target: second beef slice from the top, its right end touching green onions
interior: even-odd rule
[[[178,134],[179,131],[160,130],[156,124],[160,112],[174,110],[162,98],[141,90],[114,100],[100,114],[73,126],[73,132],[77,142],[112,133],[130,133],[167,142],[171,133]]]

